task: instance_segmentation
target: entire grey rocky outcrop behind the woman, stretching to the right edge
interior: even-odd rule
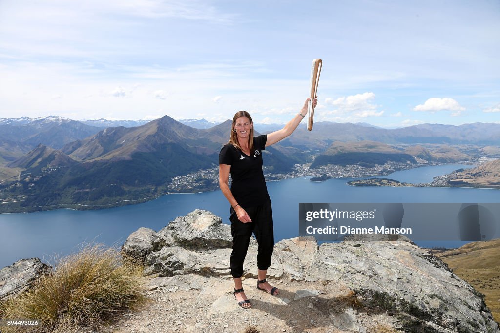
[[[274,247],[268,278],[317,283],[324,286],[324,295],[352,292],[357,300],[354,306],[340,313],[328,310],[333,325],[342,330],[366,332],[360,318],[373,313],[405,332],[500,333],[481,294],[441,260],[404,237],[383,237],[378,241],[351,238],[319,247],[313,238],[280,241]],[[210,212],[195,210],[157,233],[137,230],[122,250],[141,257],[148,274],[156,274],[164,279],[161,285],[174,288],[177,280],[199,284],[192,282],[196,279],[181,278],[189,274],[201,279],[230,278],[230,247],[230,227]],[[244,264],[247,278],[256,277],[256,254],[252,238]],[[325,296],[317,299],[323,311],[330,301]],[[311,303],[309,308],[315,306]]]

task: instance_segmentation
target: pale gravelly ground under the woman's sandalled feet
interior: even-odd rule
[[[148,304],[138,312],[128,312],[108,332],[242,333],[248,326],[262,333],[397,332],[385,325],[385,316],[352,309],[355,298],[340,285],[269,281],[280,289],[279,296],[273,297],[257,290],[255,279],[246,279],[243,288],[252,303],[246,310],[231,293],[232,280],[188,279],[144,278]],[[332,309],[339,316],[329,315]],[[357,323],[350,322],[349,312],[357,315]],[[354,331],[339,330],[335,323],[350,325]]]

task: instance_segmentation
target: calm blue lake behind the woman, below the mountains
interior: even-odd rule
[[[440,165],[394,172],[386,178],[421,183],[432,177],[469,165]],[[298,236],[299,202],[500,202],[500,191],[492,189],[435,187],[353,187],[351,179],[310,182],[295,178],[267,183],[272,201],[275,241]],[[86,242],[121,246],[140,227],[160,230],[178,216],[194,209],[212,211],[229,224],[229,204],[217,191],[170,194],[142,204],[93,211],[68,209],[35,213],[0,214],[0,268],[22,258],[40,258],[53,263],[54,255],[77,251]],[[420,246],[454,247],[465,242],[417,243]]]

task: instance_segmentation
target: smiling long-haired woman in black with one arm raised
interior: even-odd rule
[[[316,96],[317,97],[317,96]],[[287,137],[307,114],[307,104],[293,119],[280,130],[253,137],[253,121],[246,111],[238,111],[232,119],[231,138],[219,153],[219,186],[231,205],[232,253],[230,259],[231,275],[234,279],[234,297],[241,308],[251,307],[241,286],[243,261],[252,232],[258,243],[257,289],[276,296],[279,290],[265,281],[267,268],[271,265],[274,235],[272,211],[269,195],[262,173],[262,154],[265,147]],[[317,99],[312,101],[314,106]],[[227,185],[229,173],[232,178],[231,189]]]

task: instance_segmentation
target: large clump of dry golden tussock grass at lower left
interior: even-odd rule
[[[3,305],[5,319],[38,320],[38,326],[3,327],[2,332],[75,332],[99,329],[116,315],[136,309],[143,267],[121,257],[119,250],[99,245],[62,258],[54,271],[32,289]]]

